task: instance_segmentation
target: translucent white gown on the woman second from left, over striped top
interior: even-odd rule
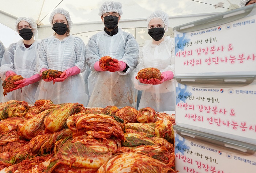
[[[80,73],[84,66],[85,45],[81,38],[71,34],[63,40],[50,36],[42,40],[39,48],[38,72],[42,68],[64,71],[77,66]],[[38,99],[49,99],[54,104],[81,103],[87,106],[88,95],[84,91],[84,80],[80,74],[69,76],[63,82],[45,82],[41,80],[36,95]]]

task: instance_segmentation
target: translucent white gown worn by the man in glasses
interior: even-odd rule
[[[137,90],[131,81],[132,72],[138,63],[139,45],[135,38],[118,28],[116,35],[101,31],[91,36],[87,44],[86,63],[91,68],[88,78],[90,100],[88,107],[137,108]],[[125,62],[126,72],[95,71],[94,64],[102,56],[111,56]]]

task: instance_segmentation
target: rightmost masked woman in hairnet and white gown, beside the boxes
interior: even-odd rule
[[[133,74],[135,88],[142,91],[139,109],[152,107],[156,111],[173,111],[175,109],[174,88],[174,38],[164,36],[168,31],[169,19],[167,13],[155,11],[147,19],[148,34],[152,40],[147,40],[139,52],[139,63]],[[161,71],[159,79],[136,79],[139,70],[154,67]]]

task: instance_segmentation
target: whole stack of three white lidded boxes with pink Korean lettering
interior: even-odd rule
[[[256,172],[256,4],[173,28],[176,170]]]

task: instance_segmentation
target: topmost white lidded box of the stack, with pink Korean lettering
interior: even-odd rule
[[[256,75],[256,5],[173,30],[176,77]]]

